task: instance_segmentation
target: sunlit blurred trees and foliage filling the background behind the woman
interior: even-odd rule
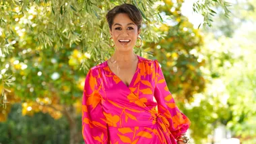
[[[211,27],[193,11],[194,2],[164,0],[146,7],[158,9],[163,22],[144,20],[143,50],[136,52],[161,63],[174,99],[191,120],[190,143],[256,143],[256,1],[229,0],[229,17],[211,7]],[[84,79],[113,49],[102,32],[108,29],[106,9],[99,4],[98,15],[79,15],[72,3],[63,2],[59,11],[50,2],[1,9],[0,44],[8,44],[0,49],[0,143],[84,143]],[[9,20],[6,11],[12,11]],[[10,34],[3,27],[7,22]]]

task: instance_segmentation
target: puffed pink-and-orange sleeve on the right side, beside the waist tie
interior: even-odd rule
[[[154,96],[158,102],[158,113],[163,114],[169,122],[168,129],[174,139],[181,134],[186,133],[190,127],[190,121],[185,114],[183,114],[174,102],[172,94],[169,92],[162,73],[162,69],[158,61],[154,61],[155,66],[155,83]]]

